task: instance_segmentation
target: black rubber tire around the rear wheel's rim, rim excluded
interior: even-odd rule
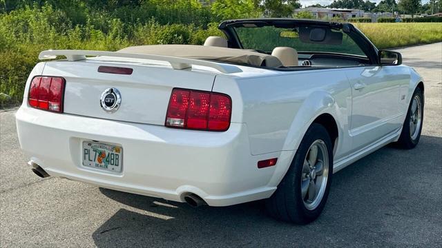
[[[317,207],[314,209],[307,209],[301,193],[302,167],[304,166],[311,145],[318,140],[323,141],[325,147],[327,147],[329,161],[327,183],[325,184],[323,198],[320,200]],[[294,160],[291,162],[287,174],[285,174],[285,177],[278,185],[278,189],[276,189],[276,192],[266,200],[267,210],[273,218],[289,223],[305,225],[311,223],[311,221],[316,220],[316,218],[320,216],[320,213],[323,211],[325,203],[327,202],[330,184],[332,183],[332,151],[332,140],[325,127],[317,123],[312,124],[305,133],[304,138],[302,138],[300,146],[294,156]]]

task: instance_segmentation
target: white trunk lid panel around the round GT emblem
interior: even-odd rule
[[[131,74],[99,72],[100,66],[133,71]],[[153,125],[164,125],[173,88],[211,91],[215,79],[211,72],[173,70],[165,63],[146,63],[145,60],[50,61],[43,74],[66,79],[64,112],[67,114]],[[100,104],[102,94],[108,89],[116,89],[121,97],[116,111],[106,111]]]

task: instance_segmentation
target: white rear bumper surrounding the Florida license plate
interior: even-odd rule
[[[268,198],[276,189],[269,182],[277,166],[258,169],[257,163],[281,154],[252,156],[243,123],[226,132],[175,130],[26,106],[16,118],[21,148],[51,176],[179,202],[193,193],[211,206]],[[123,147],[122,173],[81,164],[81,144],[91,140]]]

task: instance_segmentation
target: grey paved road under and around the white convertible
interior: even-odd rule
[[[426,80],[421,143],[384,147],[335,174],[323,215],[307,226],[273,220],[260,203],[193,209],[38,178],[19,150],[15,111],[1,112],[0,246],[441,247],[442,43],[400,52]]]

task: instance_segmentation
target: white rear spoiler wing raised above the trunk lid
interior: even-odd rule
[[[183,70],[192,68],[192,65],[202,65],[218,70],[219,72],[230,74],[242,72],[240,68],[235,65],[225,63],[216,63],[212,61],[204,61],[198,59],[186,59],[174,56],[161,56],[153,54],[137,54],[128,52],[106,52],[106,51],[92,51],[92,50],[46,50],[40,52],[39,59],[56,59],[57,56],[66,56],[68,61],[79,61],[86,59],[86,56],[113,56],[119,58],[132,59],[151,59],[155,61],[169,62],[173,69]]]

